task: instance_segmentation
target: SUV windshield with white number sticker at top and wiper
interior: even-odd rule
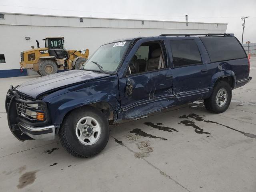
[[[99,71],[99,65],[106,73],[113,74],[118,69],[130,41],[110,43],[100,46],[96,52],[84,63],[84,70]],[[97,64],[95,64],[97,63]]]

